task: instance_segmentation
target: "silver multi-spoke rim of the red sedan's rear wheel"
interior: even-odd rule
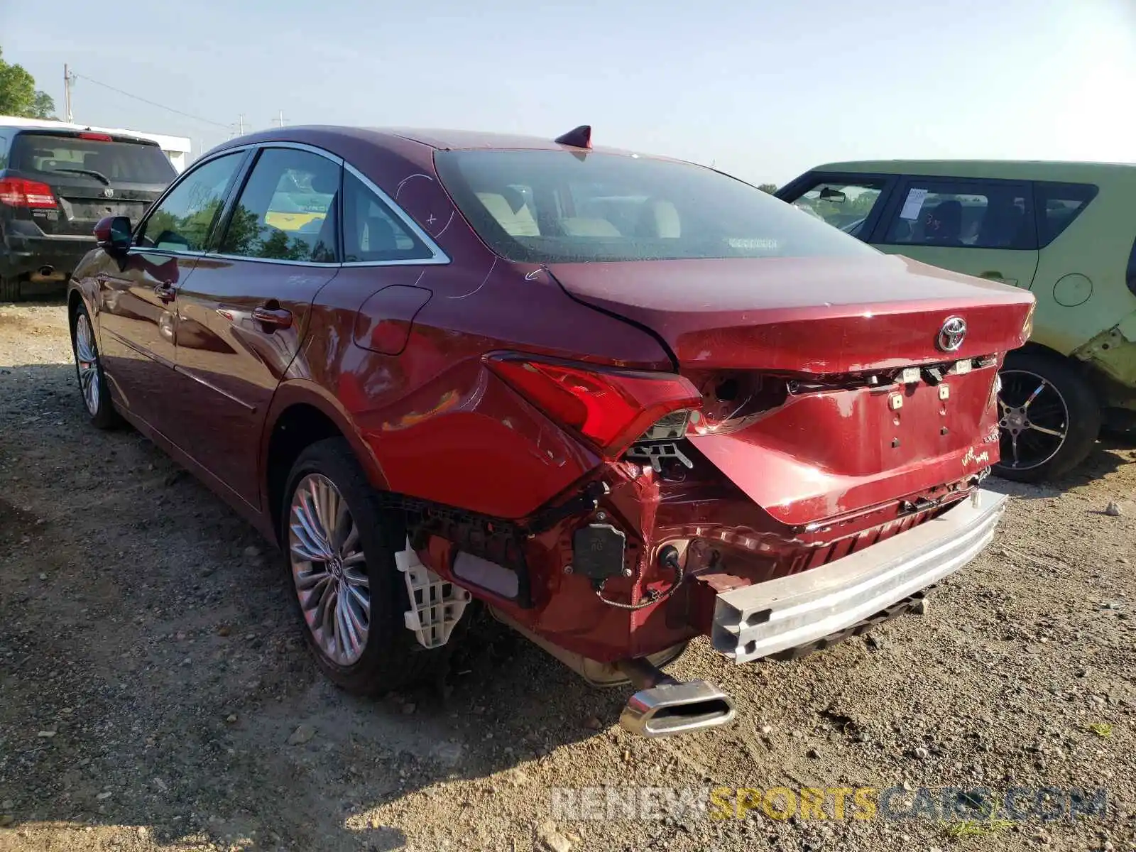
[[[321,474],[304,476],[289,509],[289,560],[308,629],[329,660],[358,662],[370,628],[370,584],[346,500]]]

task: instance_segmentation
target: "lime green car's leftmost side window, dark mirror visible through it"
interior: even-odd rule
[[[871,233],[897,182],[894,175],[810,172],[783,186],[776,195],[846,234]]]

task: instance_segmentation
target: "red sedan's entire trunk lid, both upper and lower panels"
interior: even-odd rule
[[[679,371],[824,377],[755,421],[694,446],[778,520],[804,525],[913,494],[997,460],[1001,356],[1025,342],[1033,296],[879,256],[550,267],[577,300],[659,335]],[[945,351],[947,319],[967,327]],[[951,341],[946,341],[949,344]],[[939,384],[842,378],[962,361]],[[835,381],[834,381],[835,379]]]

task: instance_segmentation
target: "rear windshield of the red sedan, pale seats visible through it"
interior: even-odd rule
[[[701,166],[633,154],[438,151],[482,237],[534,264],[875,253],[791,204]]]

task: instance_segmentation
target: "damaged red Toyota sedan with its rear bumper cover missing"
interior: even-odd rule
[[[109,218],[69,311],[119,418],[279,543],[353,692],[478,601],[623,724],[729,721],[659,668],[914,607],[991,540],[997,369],[1033,296],[882,254],[701,166],[556,140],[287,127]]]

